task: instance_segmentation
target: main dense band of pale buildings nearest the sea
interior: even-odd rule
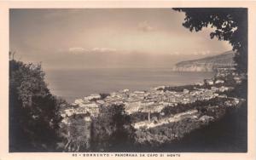
[[[223,83],[215,81],[214,83]],[[211,82],[208,82],[211,83]],[[213,84],[213,83],[211,83]],[[123,105],[128,114],[134,112],[160,112],[166,106],[177,106],[177,104],[189,104],[196,100],[211,100],[215,97],[226,97],[222,93],[231,89],[230,87],[213,87],[211,89],[194,88],[193,90],[183,89],[183,92],[165,91],[165,86],[156,87],[147,91],[120,90],[109,94],[102,99],[100,94],[91,94],[84,99],[75,100],[73,108],[63,111],[62,117],[70,117],[73,114],[90,114],[97,117],[99,107],[111,105]]]

